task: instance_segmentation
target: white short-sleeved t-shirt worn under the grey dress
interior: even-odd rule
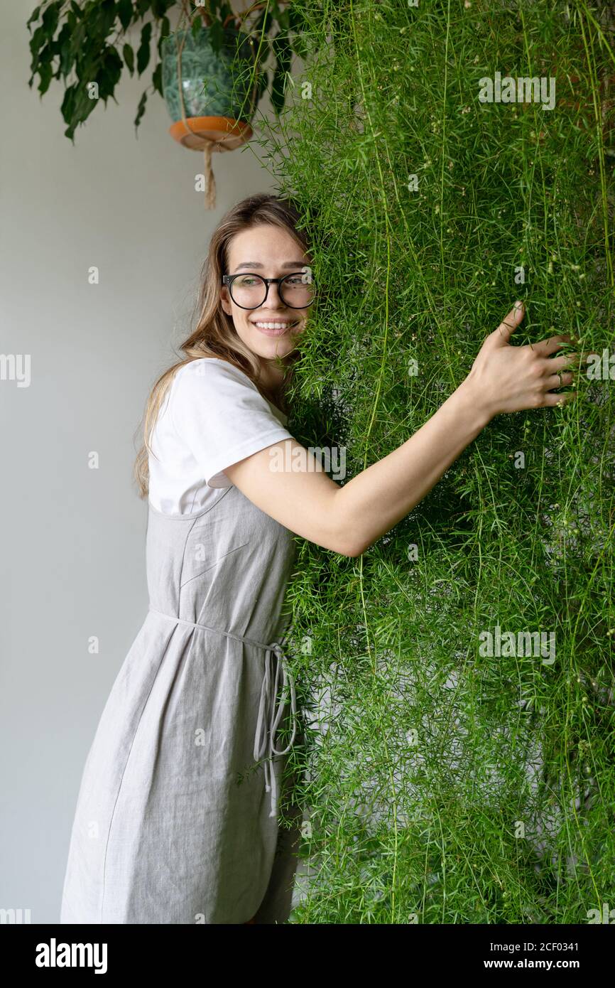
[[[149,501],[164,515],[192,515],[231,487],[223,472],[292,439],[287,416],[227,361],[204,357],[176,372],[152,430]],[[212,489],[214,488],[214,489]]]

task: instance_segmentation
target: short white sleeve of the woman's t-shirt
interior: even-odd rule
[[[177,372],[169,400],[175,431],[209,487],[232,487],[225,467],[292,439],[282,424],[285,416],[273,408],[247,374],[208,357]]]

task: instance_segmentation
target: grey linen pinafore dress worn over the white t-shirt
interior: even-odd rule
[[[235,486],[194,515],[149,503],[149,610],[83,771],[61,923],[288,919],[301,827],[296,777],[282,780],[302,737],[283,649],[294,557],[292,533]],[[277,822],[282,783],[290,829]]]

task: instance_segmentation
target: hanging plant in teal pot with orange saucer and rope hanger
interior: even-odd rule
[[[172,18],[179,21],[174,30]],[[137,22],[144,23],[135,50],[126,35]],[[205,206],[215,203],[211,151],[232,150],[252,136],[250,122],[265,92],[280,113],[292,53],[305,56],[302,14],[288,0],[253,3],[238,14],[225,0],[89,0],[83,6],[43,0],[27,27],[29,85],[38,76],[42,96],[51,79],[62,79],[64,134],[73,142],[95,107],[115,100],[124,68],[142,75],[155,43],[159,60],[134,125],[150,91],[164,97],[172,136],[204,153]]]

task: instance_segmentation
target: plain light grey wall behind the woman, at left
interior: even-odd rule
[[[42,99],[28,86],[35,6],[0,3],[0,354],[30,354],[32,373],[29,387],[0,380],[0,908],[30,909],[33,924],[58,922],[86,755],[147,609],[146,503],[131,481],[145,399],[190,328],[215,224],[274,191],[253,142],[212,156],[217,206],[204,208],[202,155],[170,136],[158,94],[135,136],[151,65],[73,146],[61,82]]]

